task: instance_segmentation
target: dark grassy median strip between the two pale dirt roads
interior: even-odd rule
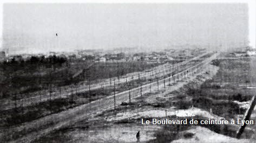
[[[200,62],[200,60],[196,62]],[[187,64],[184,63],[179,69],[176,69],[175,71],[176,72],[183,71],[187,67],[196,64],[196,62],[192,60],[192,62],[190,63],[187,63]],[[171,73],[169,73],[168,75],[167,75],[168,72],[166,72],[163,75],[161,73],[154,74],[154,76],[147,77],[147,78],[143,77],[142,75],[141,79],[133,79],[131,81],[128,80],[127,82],[124,82],[121,84],[118,84],[116,81],[115,90],[114,90],[114,86],[102,87],[96,90],[90,90],[85,92],[77,92],[77,88],[73,88],[73,91],[71,91],[71,96],[68,96],[68,98],[51,99],[51,100],[43,101],[40,104],[34,104],[27,107],[16,105],[15,108],[1,111],[3,115],[1,118],[1,127],[9,127],[9,126],[21,124],[23,122],[36,120],[49,114],[58,113],[64,110],[68,110],[68,108],[71,108],[71,107],[87,104],[87,103],[90,103],[91,101],[110,96],[111,94],[114,94],[114,92],[118,94],[128,89],[132,89],[145,84],[149,84],[156,80],[163,79],[163,76],[165,76],[165,78],[168,78],[170,75],[175,74],[175,72],[172,72],[172,71],[170,72]],[[159,78],[156,79],[156,77],[158,76]],[[169,79],[166,80],[166,85],[168,84],[168,82],[170,83],[170,80],[173,80],[173,78],[170,79],[169,77]],[[17,118],[21,120],[16,120]]]

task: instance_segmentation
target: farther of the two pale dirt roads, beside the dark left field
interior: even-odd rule
[[[15,107],[26,107],[29,105],[35,105],[38,103],[41,103],[43,101],[47,101],[47,100],[54,100],[54,99],[58,99],[58,98],[67,98],[69,96],[71,96],[71,94],[74,94],[74,91],[76,90],[77,93],[81,93],[81,92],[86,92],[90,90],[96,90],[99,88],[103,88],[103,87],[110,87],[111,85],[113,86],[113,83],[115,80],[116,83],[118,82],[119,84],[122,83],[126,83],[135,79],[139,79],[139,78],[152,78],[152,76],[154,77],[161,77],[163,75],[163,73],[172,73],[174,71],[176,71],[178,69],[178,67],[182,67],[184,69],[187,68],[187,65],[189,62],[192,62],[193,60],[198,60],[200,59],[202,56],[205,56],[209,54],[209,52],[207,53],[203,53],[202,55],[199,55],[198,57],[194,57],[192,59],[186,60],[184,62],[172,65],[172,64],[163,64],[157,67],[153,67],[150,70],[146,70],[143,72],[135,72],[135,73],[128,73],[126,76],[122,76],[119,79],[117,77],[115,78],[111,78],[111,81],[102,81],[101,83],[97,83],[97,84],[92,84],[90,85],[84,85],[84,84],[80,84],[77,87],[62,87],[62,92],[52,92],[51,94],[49,94],[49,92],[47,91],[42,91],[42,93],[44,94],[40,94],[40,95],[36,95],[32,96],[30,98],[25,98],[25,99],[20,99],[20,100],[16,100],[16,101],[0,101],[0,109],[1,110],[8,110],[11,108],[15,108]],[[75,89],[76,88],[76,89]]]

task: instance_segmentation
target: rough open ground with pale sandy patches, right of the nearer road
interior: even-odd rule
[[[222,59],[212,64],[211,70],[188,78],[186,84],[179,86],[184,82],[179,81],[158,93],[137,97],[132,103],[120,104],[116,111],[107,110],[93,119],[85,118],[36,142],[136,142],[137,131],[141,131],[141,142],[205,142],[209,138],[214,139],[209,142],[253,142],[253,126],[246,127],[242,139],[235,139],[238,125],[140,124],[141,118],[165,119],[166,114],[168,119],[241,119],[255,93],[254,88],[247,88],[255,85],[251,60]],[[251,119],[255,121],[255,117],[254,112]]]

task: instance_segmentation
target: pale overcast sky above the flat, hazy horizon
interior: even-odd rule
[[[223,48],[247,40],[247,4],[3,5],[3,48],[10,53],[186,44]]]

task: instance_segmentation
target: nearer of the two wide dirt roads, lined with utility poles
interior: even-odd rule
[[[182,78],[185,77],[186,79],[186,76],[183,76],[183,75],[188,76],[189,74],[194,74],[199,69],[202,69],[202,68],[205,69],[206,64],[208,64],[213,59],[215,59],[216,56],[218,56],[218,53],[215,53],[213,56],[206,58],[203,62],[197,65],[189,67],[188,69],[183,70],[182,72],[176,73],[174,77],[178,79],[178,76],[179,76],[180,79],[181,77]],[[194,71],[192,73],[193,69]],[[77,106],[67,111],[51,114],[51,115],[48,115],[47,117],[43,117],[35,121],[27,122],[17,127],[2,130],[0,134],[0,137],[1,137],[0,141],[6,142],[9,140],[10,142],[18,142],[18,143],[32,142],[33,140],[51,131],[58,130],[62,127],[66,127],[69,125],[73,125],[75,122],[83,120],[85,117],[93,117],[93,115],[95,115],[97,112],[102,112],[103,110],[110,110],[114,108],[114,97],[116,99],[116,104],[120,104],[122,101],[129,100],[129,94],[131,95],[131,99],[133,99],[135,97],[141,96],[141,93],[142,93],[142,96],[145,93],[149,93],[150,87],[151,87],[151,92],[157,91],[158,87],[159,89],[164,88],[165,87],[164,85],[167,85],[167,82],[169,82],[168,78],[154,81],[153,83],[150,83],[147,85],[143,85],[142,88],[141,87],[133,88],[132,90],[124,91],[121,93],[117,93],[116,95],[95,100],[95,101],[92,101],[91,103]],[[173,83],[174,81],[170,80],[170,82]]]

